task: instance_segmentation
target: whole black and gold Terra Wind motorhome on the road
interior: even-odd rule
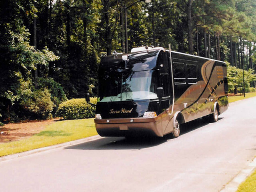
[[[180,134],[201,117],[216,122],[228,108],[226,64],[164,48],[113,53],[99,66],[96,130],[101,136]]]

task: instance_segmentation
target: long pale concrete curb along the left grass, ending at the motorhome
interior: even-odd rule
[[[100,138],[102,138],[102,137],[99,135],[96,135],[96,136],[91,136],[91,137],[87,137],[87,138],[83,138],[83,139],[69,141],[66,143],[61,143],[61,144],[56,144],[56,145],[52,145],[52,146],[48,146],[48,147],[42,147],[42,148],[33,149],[33,150],[25,151],[25,152],[20,152],[20,153],[16,153],[16,154],[6,155],[6,156],[0,157],[0,162],[16,159],[16,158],[20,158],[20,157],[25,157],[25,156],[29,156],[29,155],[40,153],[40,152],[46,152],[46,151],[50,151],[50,150],[57,149],[57,148],[64,148],[64,147],[68,147],[68,146],[78,145],[78,144],[82,144],[85,142],[98,140]]]

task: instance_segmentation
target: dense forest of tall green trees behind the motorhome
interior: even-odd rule
[[[230,90],[242,88],[242,66],[246,90],[255,87],[255,6],[255,0],[2,0],[0,120],[22,116],[22,94],[37,88],[35,71],[38,89],[51,93],[53,114],[64,94],[97,96],[100,57],[125,52],[125,7],[128,50],[172,44],[172,50],[227,60],[237,68],[230,71]]]

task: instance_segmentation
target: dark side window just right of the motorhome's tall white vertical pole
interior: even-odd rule
[[[173,63],[174,84],[186,84],[184,63]]]

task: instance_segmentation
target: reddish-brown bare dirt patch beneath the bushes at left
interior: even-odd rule
[[[40,133],[46,126],[60,120],[33,120],[23,123],[10,123],[0,127],[0,143],[22,140]]]

